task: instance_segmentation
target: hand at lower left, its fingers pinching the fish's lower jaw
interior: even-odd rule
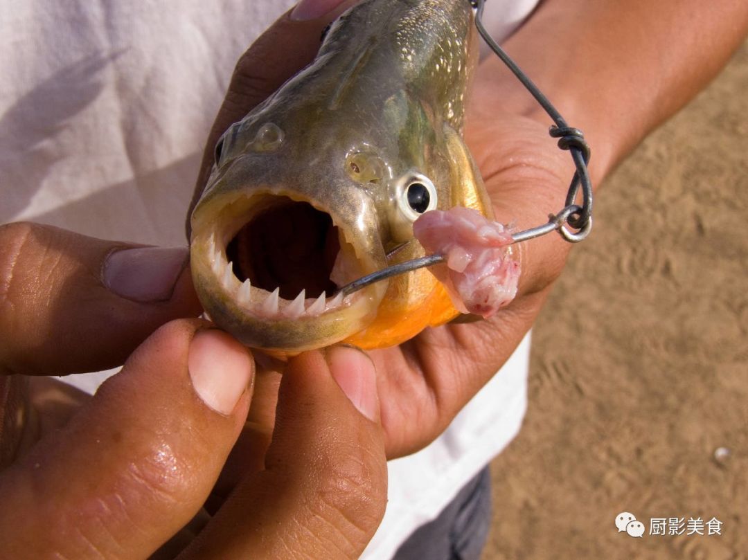
[[[206,321],[156,330],[197,313],[186,250],[0,227],[0,558],[358,558],[386,498],[370,360],[289,362],[227,496],[254,360]],[[125,358],[93,397],[44,377]]]

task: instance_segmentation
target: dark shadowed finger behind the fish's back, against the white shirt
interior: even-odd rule
[[[322,44],[322,31],[358,0],[313,0],[283,14],[239,58],[226,98],[208,135],[200,173],[197,174],[189,216],[203,192],[213,164],[218,138],[236,121],[241,120],[260,102],[275,92],[283,82],[307,66]],[[305,7],[302,6],[305,4]]]

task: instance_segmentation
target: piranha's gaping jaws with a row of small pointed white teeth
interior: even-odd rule
[[[337,256],[330,274],[338,282],[347,283],[382,267],[381,243],[372,247],[371,236],[359,235],[355,224],[282,188],[230,191],[201,201],[192,215],[191,271],[209,318],[239,342],[281,355],[331,345],[364,329],[375,319],[387,291],[383,282],[346,297],[335,295],[334,289],[320,292],[319,283],[308,294],[303,287],[297,291],[298,286],[286,286],[283,292],[283,286],[269,285],[268,280],[253,284],[251,275],[245,277],[232,260],[237,258],[234,245],[239,234],[274,208],[283,212],[298,206],[309,206],[307,213],[328,215],[337,230]],[[311,258],[316,256],[313,253]],[[304,271],[296,275],[303,278]]]

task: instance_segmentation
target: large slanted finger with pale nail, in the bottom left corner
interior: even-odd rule
[[[200,509],[241,431],[252,360],[197,320],[156,331],[0,476],[0,558],[143,559]]]

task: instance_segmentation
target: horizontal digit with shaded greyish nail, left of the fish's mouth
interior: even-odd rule
[[[118,366],[160,325],[198,313],[186,248],[0,227],[0,373]]]

